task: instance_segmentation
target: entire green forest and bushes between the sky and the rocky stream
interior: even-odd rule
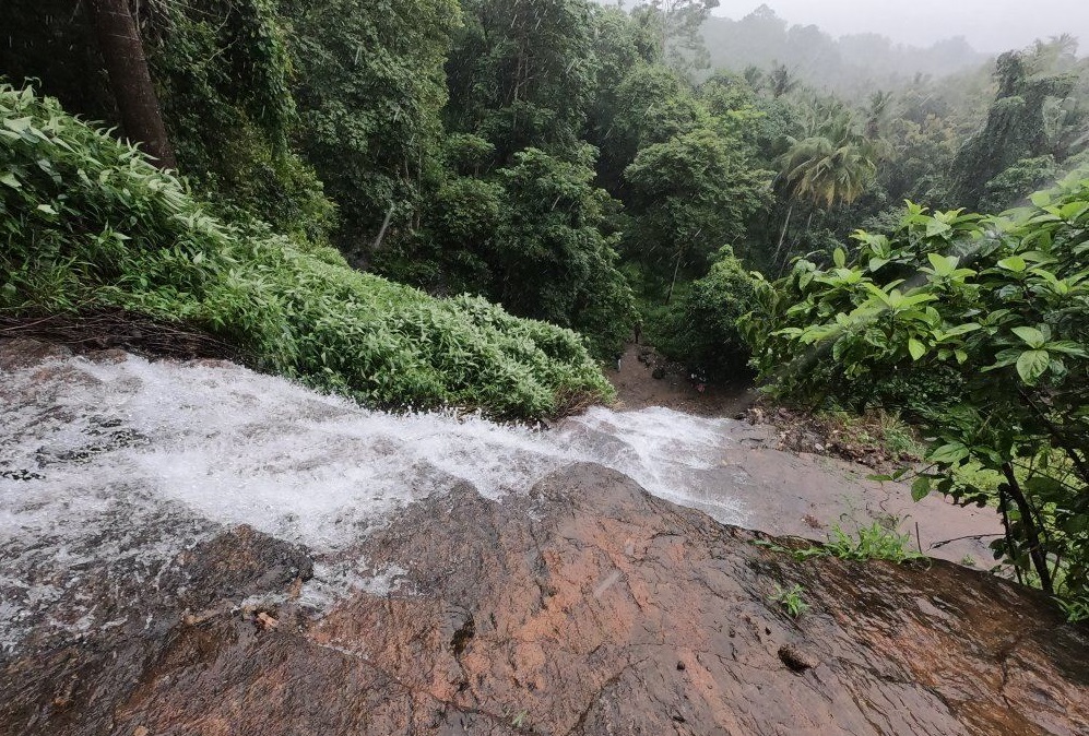
[[[718,4],[7,0],[0,309],[196,320],[363,401],[526,416],[606,395],[585,351],[640,325],[712,378],[751,357],[783,400],[903,412],[920,491],[1001,507],[998,551],[1084,593],[1077,40]]]

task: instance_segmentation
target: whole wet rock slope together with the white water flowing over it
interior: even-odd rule
[[[719,525],[996,531],[766,428],[393,417],[94,357],[0,345],[2,733],[1089,733],[1085,630],[1034,596]]]

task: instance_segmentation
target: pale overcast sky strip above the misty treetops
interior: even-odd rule
[[[979,51],[1002,51],[1070,33],[1079,56],[1089,54],[1089,0],[721,0],[715,14],[736,20],[764,2],[833,36],[873,32],[916,46],[964,36]]]

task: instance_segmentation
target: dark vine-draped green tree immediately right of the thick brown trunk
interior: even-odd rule
[[[153,75],[190,183],[283,233],[323,240],[332,203],[292,147],[298,121],[283,19],[270,0],[154,5]]]

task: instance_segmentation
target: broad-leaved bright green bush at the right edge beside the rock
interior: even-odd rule
[[[742,328],[781,395],[857,405],[890,375],[955,376],[959,391],[918,417],[931,466],[913,495],[992,503],[996,556],[1076,596],[1089,590],[1089,180],[1032,202],[1006,217],[910,205],[890,236],[859,232],[851,262],[839,250],[828,269],[800,260],[761,282]]]

